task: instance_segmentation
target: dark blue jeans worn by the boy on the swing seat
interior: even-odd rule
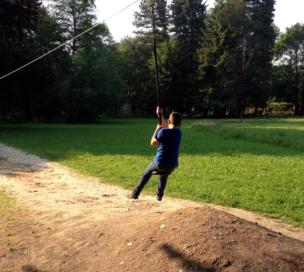
[[[143,172],[140,180],[138,181],[136,187],[133,190],[133,195],[138,197],[143,190],[143,187],[147,184],[149,181],[150,177],[152,176],[153,171],[166,171],[166,172],[173,172],[175,167],[163,167],[160,165],[157,165],[154,160],[149,164],[149,166],[146,168],[146,170]],[[163,197],[164,195],[164,189],[166,188],[167,185],[167,176],[162,176],[159,175],[159,180],[158,180],[158,187],[156,194],[159,197]]]

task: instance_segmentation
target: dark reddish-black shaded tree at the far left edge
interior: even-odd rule
[[[36,29],[40,5],[38,0],[0,2],[0,75],[4,76],[18,69],[27,64],[29,56],[37,55],[39,50],[28,44],[28,37]],[[24,77],[21,80],[20,75],[22,74],[14,73],[0,81],[0,111],[4,119],[8,117],[10,110],[21,108],[26,117],[31,117],[30,110],[26,109],[30,109],[27,92],[33,77]]]

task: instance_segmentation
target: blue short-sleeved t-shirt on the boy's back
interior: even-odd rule
[[[165,167],[178,167],[178,150],[181,143],[180,129],[161,129],[155,136],[159,142],[154,162]]]

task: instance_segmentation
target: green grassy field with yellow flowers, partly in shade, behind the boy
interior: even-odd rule
[[[0,142],[132,190],[153,160],[157,119],[2,124]],[[165,195],[237,207],[304,227],[304,119],[184,119]],[[157,177],[144,188],[155,194]],[[1,189],[1,188],[0,188]]]

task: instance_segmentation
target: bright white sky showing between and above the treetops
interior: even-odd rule
[[[167,1],[169,3],[170,0]],[[297,22],[303,23],[303,12],[300,7],[300,2],[302,1],[276,0],[274,22],[281,32],[285,32],[286,27],[293,26]],[[135,27],[133,26],[132,21],[134,20],[134,12],[140,11],[139,4],[140,0],[137,2],[136,0],[95,0],[95,5],[98,9],[98,22],[105,20],[105,23],[108,25],[109,30],[116,41],[120,41],[127,35],[134,36],[132,31],[135,30]],[[207,5],[213,7],[214,1],[207,0]]]

